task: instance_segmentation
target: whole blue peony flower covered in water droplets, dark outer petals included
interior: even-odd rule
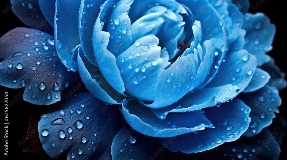
[[[285,75],[266,54],[275,25],[247,13],[249,1],[11,4],[30,28],[1,37],[0,84],[25,87],[23,99],[35,105],[62,99],[38,125],[50,157],[173,159],[210,150],[220,159],[278,159],[280,138],[266,127],[279,113]]]

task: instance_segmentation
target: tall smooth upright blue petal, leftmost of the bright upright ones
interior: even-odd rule
[[[77,64],[72,61],[72,55],[75,47],[80,43],[77,20],[79,6],[80,1],[62,3],[56,0],[54,21],[56,49],[61,62],[72,71],[78,70]]]

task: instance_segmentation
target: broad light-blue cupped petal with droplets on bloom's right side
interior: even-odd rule
[[[240,50],[226,57],[225,62],[223,62],[221,66],[214,79],[206,87],[212,88],[232,84],[238,87],[239,90],[237,93],[228,96],[229,98],[235,97],[239,92],[243,91],[251,81],[256,69],[256,56],[249,54],[246,50]],[[226,90],[228,90],[228,88],[226,88]],[[224,99],[222,100],[223,102],[226,101]]]

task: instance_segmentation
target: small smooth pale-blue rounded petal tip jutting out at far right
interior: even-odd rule
[[[252,79],[243,92],[253,92],[262,88],[270,79],[270,75],[260,68],[256,68]]]

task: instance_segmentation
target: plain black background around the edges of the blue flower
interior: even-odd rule
[[[258,0],[259,1],[259,0]],[[261,0],[263,1],[263,0]],[[1,0],[1,33],[0,36],[8,32],[9,30],[15,27],[27,27],[24,25],[14,14],[12,11],[3,15],[2,9],[6,9],[6,5],[10,5],[9,0]],[[282,3],[282,1],[271,1],[265,0],[263,4],[261,4],[258,9],[253,9],[251,6],[256,5],[256,0],[250,0],[250,9],[249,12],[257,13],[263,12],[267,15],[271,23],[276,25],[276,35],[273,42],[274,49],[270,51],[268,54],[275,59],[276,65],[280,67],[282,72],[286,73],[286,5]],[[13,44],[12,44],[13,45]],[[5,46],[0,46],[5,47]],[[1,92],[9,92],[9,95],[18,94],[21,89],[8,89],[0,86]],[[286,93],[287,89],[284,89],[280,92],[280,96],[282,98],[282,105],[279,107],[280,113],[287,118],[287,114],[284,111],[284,107],[286,107]],[[1,93],[2,95],[3,93]],[[19,157],[20,159],[50,159],[46,155],[34,155],[30,153],[21,152],[22,148],[19,147],[18,141],[21,141],[22,136],[27,135],[27,130],[29,128],[28,123],[30,117],[32,115],[32,110],[34,109],[34,105],[30,103],[26,103],[23,101],[22,97],[18,100],[13,107],[9,109],[9,159],[12,157]],[[36,106],[42,107],[42,106]],[[45,107],[43,107],[45,108]],[[285,112],[285,113],[284,113]],[[286,157],[286,147],[287,139],[286,136],[283,139],[283,143],[281,145],[281,154],[279,159],[285,159]],[[4,155],[5,156],[5,155]],[[5,157],[4,157],[5,159]],[[65,158],[63,158],[65,159]]]

